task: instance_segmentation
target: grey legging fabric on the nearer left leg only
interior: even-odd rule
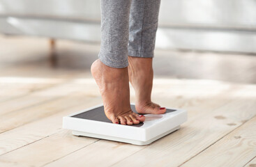
[[[98,58],[107,66],[128,66],[129,14],[132,0],[101,0],[101,42]]]

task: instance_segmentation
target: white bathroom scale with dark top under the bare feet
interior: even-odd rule
[[[131,104],[135,110],[135,105]],[[144,114],[144,122],[137,125],[114,124],[107,119],[104,106],[100,104],[89,109],[63,117],[63,128],[70,129],[75,136],[103,138],[134,145],[148,145],[180,128],[187,120],[183,109],[169,109],[163,114]]]

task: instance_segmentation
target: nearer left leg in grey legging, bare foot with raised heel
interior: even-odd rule
[[[101,0],[101,43],[99,59],[91,74],[103,97],[104,111],[113,123],[133,125],[144,116],[130,109],[128,79],[128,35],[131,0]]]

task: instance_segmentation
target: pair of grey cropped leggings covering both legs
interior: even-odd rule
[[[100,61],[121,68],[128,56],[152,58],[159,8],[160,0],[100,0]]]

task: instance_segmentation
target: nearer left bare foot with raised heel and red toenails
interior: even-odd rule
[[[109,120],[122,125],[144,122],[144,116],[130,109],[128,67],[109,67],[98,59],[91,65],[91,74],[100,88],[105,114]]]

